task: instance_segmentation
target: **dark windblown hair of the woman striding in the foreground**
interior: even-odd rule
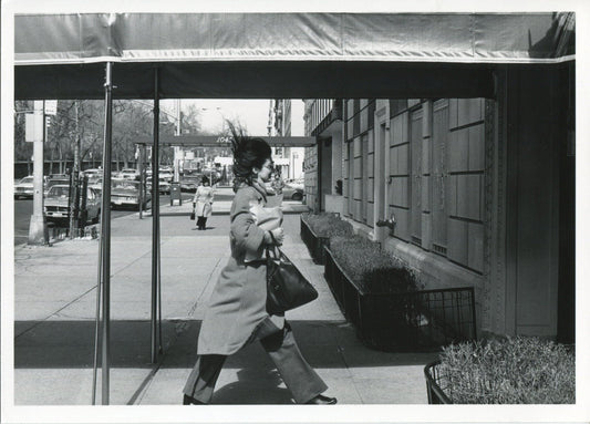
[[[228,122],[231,132],[231,151],[234,152],[234,192],[246,183],[252,185],[253,168],[261,169],[272,155],[269,144],[260,137],[249,137],[241,127]]]

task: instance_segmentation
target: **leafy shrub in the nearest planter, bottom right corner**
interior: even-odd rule
[[[443,403],[568,404],[576,403],[575,365],[571,349],[517,337],[452,344],[427,375],[435,374],[428,384],[449,401]]]

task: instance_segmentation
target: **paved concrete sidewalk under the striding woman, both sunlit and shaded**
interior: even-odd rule
[[[180,404],[205,302],[229,256],[227,215],[213,216],[207,225],[207,231],[195,231],[186,216],[162,217],[163,353],[152,364],[152,219],[130,215],[113,220],[111,404]],[[436,354],[365,348],[340,312],[323,267],[313,263],[302,244],[299,216],[286,215],[284,228],[283,250],[320,293],[287,318],[303,355],[329,385],[327,394],[340,404],[427,403],[423,368]],[[91,403],[97,252],[97,240],[15,248],[15,405]],[[100,404],[100,384],[97,393]],[[291,402],[258,343],[229,358],[214,395],[215,404]]]

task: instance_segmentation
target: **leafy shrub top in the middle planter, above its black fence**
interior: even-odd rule
[[[364,237],[332,237],[330,250],[346,275],[364,291],[391,293],[416,289],[414,273]]]

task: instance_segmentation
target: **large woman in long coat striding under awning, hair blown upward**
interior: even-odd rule
[[[196,364],[184,387],[183,404],[208,404],[226,358],[247,343],[260,341],[275,362],[296,403],[335,404],[322,395],[328,387],[303,359],[284,314],[266,311],[267,269],[258,261],[265,246],[282,244],[283,229],[263,230],[256,225],[253,208],[266,204],[265,182],[270,178],[270,146],[231,127],[234,190],[230,209],[231,256],[209,300],[198,337]]]

